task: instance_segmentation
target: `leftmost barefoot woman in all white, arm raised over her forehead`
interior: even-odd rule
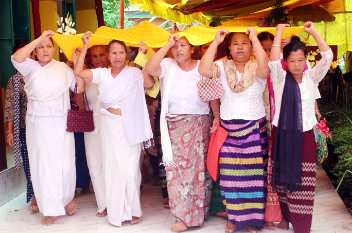
[[[55,47],[52,31],[42,35],[11,57],[13,66],[23,74],[28,97],[26,134],[33,189],[39,210],[47,216],[41,223],[51,225],[58,216],[76,211],[75,142],[66,131],[69,89],[76,80],[73,70],[52,59]],[[38,61],[28,58],[34,50]],[[85,83],[78,80],[78,91]]]

